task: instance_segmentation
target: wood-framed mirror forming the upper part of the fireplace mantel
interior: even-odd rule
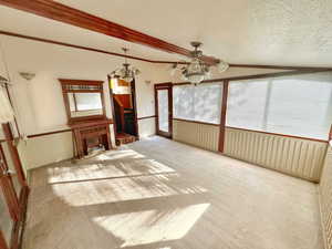
[[[69,124],[105,120],[102,81],[59,79]]]

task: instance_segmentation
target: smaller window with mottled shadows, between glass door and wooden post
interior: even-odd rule
[[[174,86],[174,117],[219,124],[221,94],[221,83]]]

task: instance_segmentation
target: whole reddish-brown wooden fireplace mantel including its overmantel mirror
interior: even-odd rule
[[[106,118],[103,81],[59,79],[62,86],[68,124],[75,142],[75,157],[94,151],[112,148],[110,124]]]

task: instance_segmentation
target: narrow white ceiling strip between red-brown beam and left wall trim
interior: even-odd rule
[[[0,30],[24,35],[66,42],[115,53],[123,53],[122,48],[129,48],[128,55],[148,60],[179,60],[179,55],[158,51],[145,45],[128,43],[97,32],[65,24],[32,13],[0,6]],[[1,42],[1,35],[0,35]]]

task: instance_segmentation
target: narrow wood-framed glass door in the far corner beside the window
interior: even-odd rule
[[[173,87],[172,83],[155,85],[156,133],[172,138],[173,136]]]

